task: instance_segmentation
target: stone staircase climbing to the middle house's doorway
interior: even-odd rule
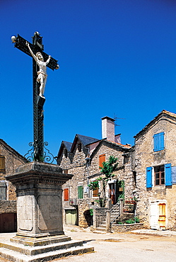
[[[117,202],[115,205],[112,206],[110,210],[110,226],[114,224],[117,220],[117,218],[120,216],[120,204]],[[106,219],[99,224],[99,227],[96,227],[96,229],[93,231],[93,233],[97,234],[105,234],[107,233],[107,224]]]

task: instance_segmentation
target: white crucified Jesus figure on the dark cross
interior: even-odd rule
[[[44,59],[42,57],[42,54],[40,52],[37,52],[36,55],[33,54],[33,51],[30,49],[30,45],[28,42],[26,42],[26,45],[28,46],[30,50],[30,54],[32,55],[33,59],[35,59],[35,62],[39,66],[40,70],[37,72],[37,82],[40,83],[40,93],[39,96],[42,98],[45,98],[44,91],[45,91],[45,85],[47,82],[47,64],[49,63],[49,60],[51,56],[49,55],[46,62],[44,62]]]

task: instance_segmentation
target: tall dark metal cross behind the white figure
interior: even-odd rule
[[[42,37],[38,32],[35,32],[33,38],[33,44],[29,42],[30,49],[33,51],[33,54],[40,52],[44,61],[47,61],[48,55],[43,52],[44,47],[42,45]],[[12,41],[15,43],[14,47],[23,51],[25,54],[32,57],[30,50],[26,45],[26,41],[20,35],[17,37],[12,37]],[[47,67],[50,69],[59,69],[59,64],[54,58],[50,58]],[[34,141],[33,141],[33,159],[34,161],[44,161],[44,135],[43,135],[43,105],[45,103],[45,98],[39,96],[40,84],[37,82],[37,72],[39,67],[33,58],[33,132],[34,132]]]

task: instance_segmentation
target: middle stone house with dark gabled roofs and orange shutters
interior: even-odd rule
[[[63,187],[64,222],[88,227],[92,223],[90,210],[96,205],[98,191],[89,190],[88,184],[102,175],[100,166],[110,156],[118,159],[118,171],[108,181],[106,197],[115,205],[119,198],[130,198],[134,189],[131,171],[130,145],[121,144],[120,134],[115,135],[115,120],[102,118],[102,139],[76,135],[74,142],[61,142],[57,164],[74,177]],[[125,181],[125,182],[124,182]],[[101,185],[98,190],[101,190]]]

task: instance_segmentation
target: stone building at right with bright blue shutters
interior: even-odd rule
[[[163,110],[135,136],[137,214],[151,229],[176,229],[176,114]]]

